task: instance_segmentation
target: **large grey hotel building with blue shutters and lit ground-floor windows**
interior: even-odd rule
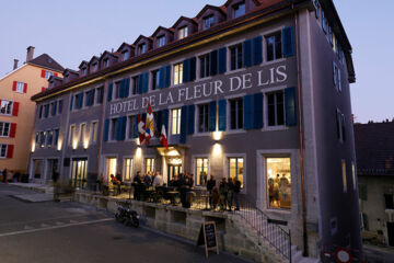
[[[196,187],[236,176],[299,249],[318,256],[336,244],[358,256],[355,81],[333,1],[206,5],[49,79],[32,98],[30,176],[47,183],[56,172],[88,188],[117,172],[130,181],[160,171],[169,182],[187,171]],[[148,101],[169,149],[155,138],[139,145]]]

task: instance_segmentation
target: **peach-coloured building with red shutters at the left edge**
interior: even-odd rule
[[[34,58],[27,47],[26,62],[0,78],[0,170],[26,173],[36,105],[31,96],[48,88],[50,76],[63,68],[47,54]]]

